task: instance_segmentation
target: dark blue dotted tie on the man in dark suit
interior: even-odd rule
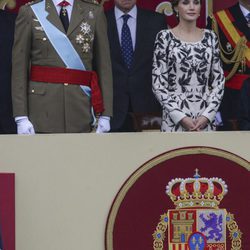
[[[128,19],[130,18],[130,15],[126,14],[122,16],[123,18],[123,26],[122,26],[122,34],[121,34],[121,49],[122,49],[122,57],[127,65],[128,69],[132,65],[133,61],[133,43],[131,38],[130,29],[128,27]]]

